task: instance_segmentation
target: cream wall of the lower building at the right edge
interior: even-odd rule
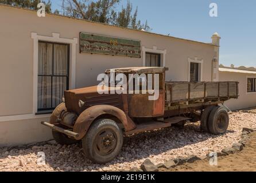
[[[225,104],[231,110],[246,109],[256,106],[256,93],[247,93],[247,77],[255,77],[256,74],[232,73],[220,71],[220,81],[238,81],[239,82],[239,98],[231,99]]]

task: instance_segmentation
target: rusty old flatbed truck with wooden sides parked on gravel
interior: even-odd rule
[[[224,101],[238,98],[238,82],[166,82],[165,67],[129,67],[115,73],[159,77],[159,97],[149,93],[99,94],[97,86],[64,92],[63,103],[49,122],[55,140],[62,145],[82,142],[92,162],[104,164],[120,152],[123,137],[185,122],[200,121],[202,132],[226,133],[229,123]],[[109,74],[113,69],[106,70]],[[108,90],[115,87],[108,85]]]

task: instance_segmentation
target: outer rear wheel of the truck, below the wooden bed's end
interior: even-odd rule
[[[214,109],[212,109],[208,121],[210,133],[215,135],[226,133],[228,124],[229,117],[225,108],[216,106]]]

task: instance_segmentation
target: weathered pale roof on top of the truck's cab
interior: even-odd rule
[[[167,67],[124,67],[117,69],[107,69],[106,74],[110,72],[126,73],[126,74],[149,74],[149,73],[164,73],[168,70]]]

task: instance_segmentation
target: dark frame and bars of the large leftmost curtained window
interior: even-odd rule
[[[37,113],[36,114],[49,114],[49,113],[52,113],[53,110],[56,108],[56,107],[53,107],[52,106],[52,99],[53,99],[53,77],[65,77],[66,78],[66,89],[65,90],[68,90],[69,89],[69,69],[70,69],[70,44],[69,43],[61,43],[61,42],[51,42],[51,41],[40,41],[38,40],[38,48],[39,48],[39,44],[40,43],[48,43],[48,44],[52,44],[52,74],[38,74],[38,71],[37,71],[37,78],[38,77],[51,77],[51,108],[44,108],[44,109],[39,109],[38,106],[37,106]],[[54,69],[53,69],[53,66],[54,66],[54,47],[55,45],[64,45],[64,46],[67,46],[68,47],[68,50],[67,50],[67,75],[57,75],[57,74],[54,74]],[[37,89],[38,89],[38,81],[37,81]],[[38,100],[38,95],[37,95],[37,100]]]

